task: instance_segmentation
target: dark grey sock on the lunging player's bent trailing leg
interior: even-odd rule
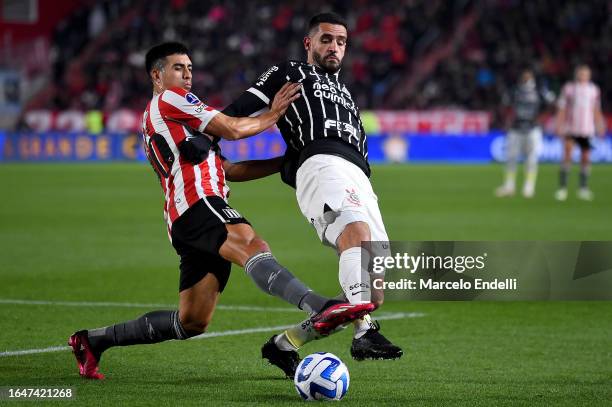
[[[181,325],[178,311],[153,311],[138,319],[87,331],[89,344],[101,354],[113,346],[158,343],[190,336]]]

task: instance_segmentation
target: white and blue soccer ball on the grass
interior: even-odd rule
[[[346,365],[336,355],[317,352],[300,362],[293,382],[304,400],[340,400],[349,385]]]

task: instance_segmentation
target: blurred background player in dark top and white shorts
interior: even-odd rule
[[[531,69],[521,73],[518,83],[508,95],[505,104],[511,107],[512,120],[506,138],[506,172],[502,186],[495,190],[498,197],[513,196],[516,188],[516,171],[521,154],[525,157],[523,196],[535,194],[538,176],[538,154],[542,145],[542,129],[538,116],[546,104],[554,101],[554,95],[536,84]]]

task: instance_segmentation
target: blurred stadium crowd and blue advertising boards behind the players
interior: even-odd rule
[[[526,65],[558,95],[573,67],[587,63],[604,110],[612,99],[605,0],[1,4],[0,159],[8,161],[143,160],[137,133],[151,93],[142,68],[149,46],[187,42],[194,91],[221,108],[270,64],[302,59],[305,23],[327,9],[350,22],[343,75],[374,136],[375,163],[503,161],[502,100]],[[551,106],[542,117],[544,162],[561,156],[553,114]],[[226,154],[282,149],[272,131]],[[610,138],[597,140],[593,161],[612,162]]]

